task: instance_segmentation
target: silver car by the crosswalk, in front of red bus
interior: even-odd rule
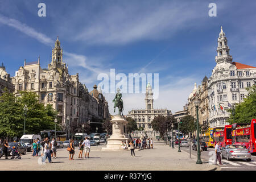
[[[237,144],[229,144],[223,147],[221,150],[221,157],[229,159],[246,159],[251,161],[251,153],[247,150],[246,146],[241,146]]]

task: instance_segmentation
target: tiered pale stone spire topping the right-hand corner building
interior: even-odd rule
[[[226,38],[226,35],[222,29],[221,26],[221,31],[218,36],[218,47],[217,47],[217,56],[215,57],[216,63],[232,63],[232,56],[229,55],[229,47],[228,47],[228,39]]]

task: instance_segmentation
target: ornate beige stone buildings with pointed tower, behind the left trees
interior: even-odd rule
[[[27,63],[16,71],[13,77],[15,95],[20,91],[35,92],[44,105],[51,104],[58,111],[57,119],[65,127],[75,122],[86,122],[92,117],[105,119],[109,117],[108,102],[102,97],[92,97],[88,88],[79,81],[79,73],[69,75],[68,65],[63,61],[63,49],[59,38],[52,49],[52,60],[48,69],[40,67],[38,61]],[[99,109],[100,108],[100,109]],[[101,110],[106,110],[105,113]]]

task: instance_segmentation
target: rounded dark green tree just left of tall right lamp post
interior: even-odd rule
[[[192,115],[181,118],[180,131],[184,134],[196,131],[195,118]]]

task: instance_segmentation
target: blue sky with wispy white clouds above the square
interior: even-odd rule
[[[46,17],[38,4],[46,3]],[[209,3],[217,16],[208,15]],[[155,108],[174,113],[216,65],[220,26],[234,61],[256,66],[255,1],[4,1],[0,0],[0,62],[14,76],[40,55],[46,68],[59,36],[69,73],[89,90],[99,73],[159,73]],[[113,94],[105,94],[113,113]],[[143,94],[125,94],[125,111],[144,108]]]

